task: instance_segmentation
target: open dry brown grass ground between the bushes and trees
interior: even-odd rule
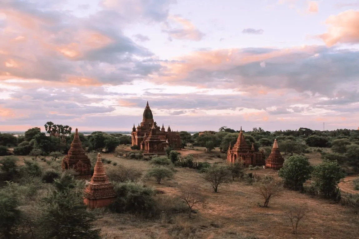
[[[196,161],[222,162],[220,152],[205,153],[204,148],[198,150],[181,150],[182,155],[194,154]],[[121,146],[123,152],[130,152],[128,146]],[[313,165],[321,162],[319,153],[307,154]],[[149,162],[115,157],[113,154],[103,154],[103,158],[117,164],[136,168],[144,173],[151,166]],[[220,156],[221,157],[221,156]],[[28,159],[29,157],[19,157]],[[45,168],[60,167],[60,160],[56,162],[37,161]],[[107,171],[116,170],[117,166],[104,164]],[[158,185],[154,180],[144,181],[147,186],[152,186],[163,192],[168,197],[178,195],[180,185],[198,184],[202,193],[208,200],[205,207],[194,207],[197,213],[188,219],[187,214],[177,214],[171,220],[161,218],[156,221],[146,220],[127,214],[109,214],[102,212],[102,218],[96,224],[102,229],[103,238],[106,239],[147,239],[147,238],[207,238],[207,239],[231,239],[231,238],[306,238],[306,239],[339,239],[359,238],[359,216],[340,204],[332,204],[330,201],[311,197],[306,194],[285,190],[276,198],[271,199],[269,208],[258,206],[263,204],[260,196],[253,192],[253,186],[242,181],[234,181],[226,186],[220,186],[218,193],[214,193],[207,183],[194,169],[176,168],[176,174],[172,180],[164,180]],[[248,172],[256,172],[258,175],[277,175],[277,171],[270,169],[258,169]],[[341,183],[344,190],[350,189],[348,178]],[[353,189],[353,188],[351,188]],[[313,210],[303,219],[299,225],[298,234],[292,233],[292,227],[288,218],[285,218],[282,208],[288,205],[307,204]],[[168,223],[171,221],[171,223]],[[251,237],[252,236],[252,237]]]

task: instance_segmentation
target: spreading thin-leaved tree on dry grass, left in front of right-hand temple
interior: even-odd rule
[[[212,164],[204,170],[204,180],[209,182],[214,192],[218,191],[218,186],[232,181],[232,172],[228,166]]]

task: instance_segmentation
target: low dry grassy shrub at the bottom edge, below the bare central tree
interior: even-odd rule
[[[176,218],[176,223],[168,228],[168,234],[175,239],[197,239],[202,238],[198,228],[189,221]]]

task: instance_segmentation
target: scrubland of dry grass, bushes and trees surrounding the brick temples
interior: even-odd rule
[[[131,149],[127,135],[80,134],[92,167],[102,153],[117,195],[109,207],[88,210],[85,181],[61,171],[74,134],[46,125],[47,134],[0,134],[0,238],[358,237],[359,130],[245,132],[266,156],[277,139],[279,171],[227,165],[238,137],[227,127],[180,132],[182,150],[152,157]]]

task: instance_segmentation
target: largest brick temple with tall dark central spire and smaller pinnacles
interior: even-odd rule
[[[151,134],[151,137],[150,137]],[[154,154],[152,152],[164,153],[164,148],[169,146],[174,150],[181,150],[181,137],[178,132],[173,132],[171,128],[167,128],[167,131],[162,124],[162,128],[157,126],[157,123],[153,120],[153,114],[150,109],[150,106],[147,105],[143,111],[142,122],[132,128],[132,146],[137,145],[141,147],[141,150],[144,150],[144,155]],[[152,140],[149,143],[149,140]],[[162,145],[161,145],[162,143]],[[161,151],[162,150],[162,151]]]

